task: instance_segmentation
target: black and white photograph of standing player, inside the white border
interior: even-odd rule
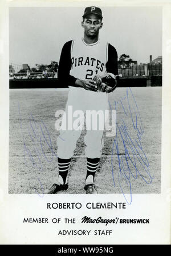
[[[11,7],[9,32],[9,193],[160,193],[161,7]]]

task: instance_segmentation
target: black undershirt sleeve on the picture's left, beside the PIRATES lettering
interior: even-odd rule
[[[60,54],[60,60],[59,60],[59,67],[58,67],[58,79],[60,86],[76,86],[75,81],[78,78],[73,77],[70,75],[71,70],[71,45],[72,40],[65,43],[61,54]]]

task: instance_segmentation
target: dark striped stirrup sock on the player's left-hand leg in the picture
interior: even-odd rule
[[[71,158],[70,159],[62,159],[58,157],[58,170],[59,170],[59,177],[58,182],[62,185],[67,184],[67,175],[68,169],[70,166]]]

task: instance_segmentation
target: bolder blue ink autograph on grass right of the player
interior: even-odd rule
[[[123,105],[123,101],[127,102],[127,109]],[[133,96],[131,88],[127,88],[127,96],[122,97],[120,101],[115,101],[114,109],[117,110],[117,107],[121,105],[124,111],[124,118],[121,119],[120,124],[116,125],[116,138],[113,141],[112,145],[112,178],[113,185],[115,186],[114,178],[114,169],[113,169],[113,153],[116,150],[117,161],[119,163],[119,172],[118,172],[118,181],[121,192],[124,195],[125,200],[129,205],[132,203],[132,186],[131,178],[136,179],[138,175],[146,183],[152,183],[152,175],[149,173],[149,162],[143,150],[141,144],[141,138],[144,134],[143,122],[140,117],[139,108],[137,106],[135,97]],[[112,110],[111,104],[109,102],[109,107]],[[136,133],[137,138],[132,138],[128,126],[125,123],[125,118],[131,117],[131,122],[133,125],[133,130]],[[132,128],[131,128],[132,130]],[[122,142],[119,143],[119,141]],[[120,145],[120,147],[119,147]],[[120,148],[124,149],[124,153],[120,153]],[[139,167],[140,166],[140,167]],[[135,173],[133,173],[135,171]],[[123,183],[125,184],[123,186]],[[124,187],[127,187],[129,190],[128,198],[125,195]]]

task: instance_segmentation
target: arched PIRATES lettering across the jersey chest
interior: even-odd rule
[[[103,67],[104,67],[104,63],[101,61],[99,61],[99,59],[95,59],[95,58],[84,58],[84,57],[78,57],[78,58],[74,58],[72,57],[71,59],[72,62],[72,66],[71,69],[73,69],[73,67],[77,67],[77,66],[92,66],[93,68],[100,70],[101,72],[103,71]]]

